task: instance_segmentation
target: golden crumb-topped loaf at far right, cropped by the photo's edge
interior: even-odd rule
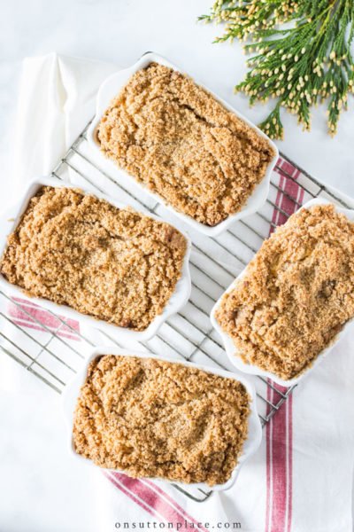
[[[312,364],[354,317],[354,224],[335,207],[290,216],[216,313],[246,363],[281,379]]]

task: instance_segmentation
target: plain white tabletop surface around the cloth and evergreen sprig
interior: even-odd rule
[[[0,18],[0,199],[12,196],[12,123],[21,60],[58,51],[127,66],[143,51],[164,54],[195,74],[253,121],[266,108],[250,109],[233,94],[245,72],[237,45],[212,44],[220,27],[196,24],[212,0],[13,0],[2,2]],[[350,102],[352,108],[353,102]],[[283,153],[313,176],[354,196],[354,120],[343,115],[335,139],[327,136],[318,109],[305,134],[284,116]],[[65,452],[58,396],[0,354],[0,530],[6,532],[93,531],[95,494],[91,470],[73,464]],[[20,382],[20,386],[16,383]],[[12,384],[13,383],[13,384]],[[20,389],[20,392],[19,392]]]

